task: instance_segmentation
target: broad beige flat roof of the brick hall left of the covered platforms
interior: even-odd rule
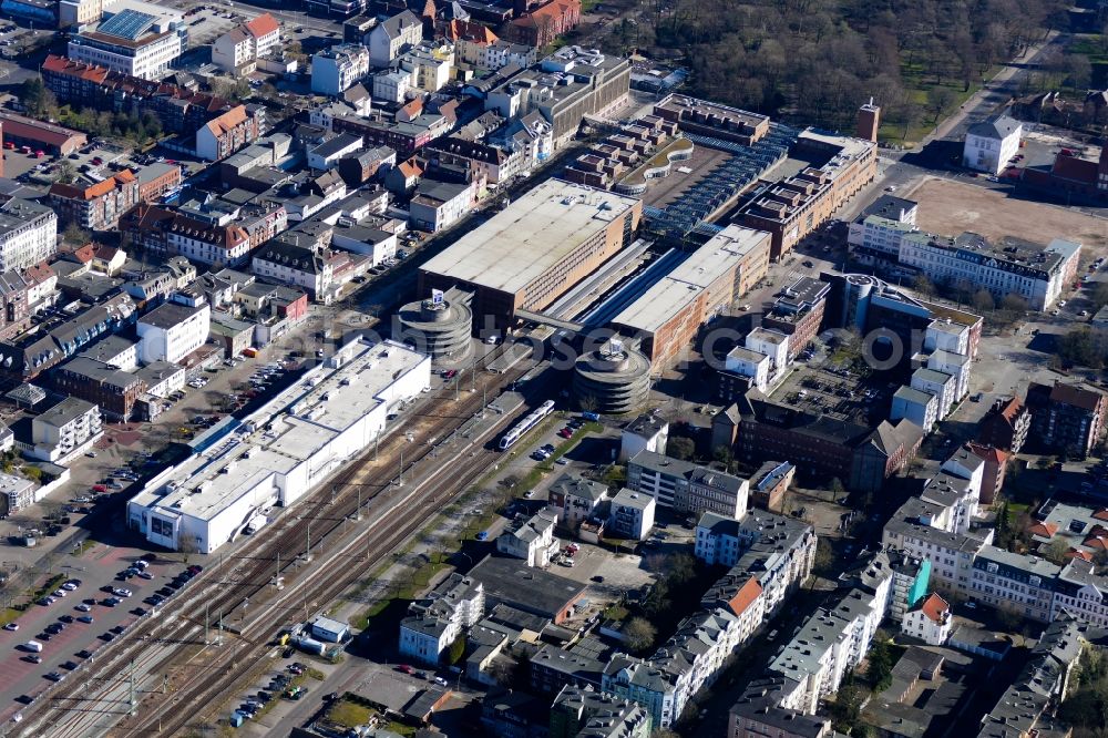
[[[595,187],[547,180],[421,269],[515,294],[637,202]]]

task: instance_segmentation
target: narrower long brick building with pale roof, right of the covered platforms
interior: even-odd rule
[[[613,318],[613,327],[639,338],[653,367],[664,365],[766,276],[770,243],[765,230],[727,226]]]

